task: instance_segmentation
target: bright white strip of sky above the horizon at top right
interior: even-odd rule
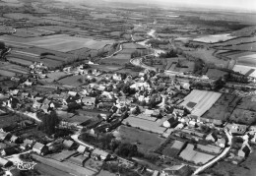
[[[154,4],[179,4],[186,7],[204,7],[209,9],[246,10],[256,12],[256,0],[106,0],[119,2],[142,2]]]

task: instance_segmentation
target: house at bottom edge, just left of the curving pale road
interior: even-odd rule
[[[190,176],[192,170],[188,165],[181,164],[181,165],[173,165],[169,168],[163,169],[163,172],[167,175],[178,175],[178,176]]]

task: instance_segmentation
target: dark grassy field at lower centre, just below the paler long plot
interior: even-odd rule
[[[154,150],[158,147],[163,139],[159,135],[141,131],[132,127],[120,126],[117,132],[114,132],[117,139],[123,143],[131,143],[137,145],[142,151]]]

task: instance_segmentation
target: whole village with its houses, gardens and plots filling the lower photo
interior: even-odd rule
[[[131,76],[84,68],[52,72],[34,63],[27,79],[4,81],[3,172],[33,161],[36,171],[49,174],[185,176],[220,159],[239,164],[252,152],[256,126],[204,116],[230,95],[224,89],[192,89],[175,76],[147,69]],[[52,74],[82,75],[85,84],[39,84]]]

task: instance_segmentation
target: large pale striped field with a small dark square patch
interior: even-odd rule
[[[180,105],[187,107],[191,114],[200,117],[212,107],[221,95],[222,93],[219,92],[193,89]]]

